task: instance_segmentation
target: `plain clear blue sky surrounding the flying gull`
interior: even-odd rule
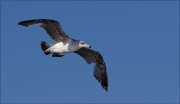
[[[46,56],[48,18],[99,51],[109,91],[74,53]],[[1,1],[2,103],[178,103],[179,1]]]

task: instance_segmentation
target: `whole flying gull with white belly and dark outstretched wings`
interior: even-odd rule
[[[56,42],[56,44],[50,44],[42,41],[41,48],[44,54],[52,54],[52,57],[63,57],[67,53],[74,52],[84,58],[88,64],[95,63],[93,75],[101,83],[101,86],[108,91],[106,64],[98,51],[90,49],[91,46],[84,41],[70,38],[63,31],[58,21],[52,19],[33,19],[21,21],[18,24],[29,26],[38,23],[41,23],[39,27],[45,29]]]

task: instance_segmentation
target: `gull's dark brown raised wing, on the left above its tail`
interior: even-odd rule
[[[42,27],[46,30],[49,36],[56,42],[67,41],[69,37],[63,31],[59,22],[51,19],[34,19],[34,20],[25,20],[21,21],[18,24],[22,26],[29,26],[41,23],[39,27]]]

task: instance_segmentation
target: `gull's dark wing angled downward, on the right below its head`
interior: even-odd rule
[[[82,56],[88,64],[95,63],[94,77],[101,83],[101,86],[108,91],[106,64],[101,54],[89,48],[81,48],[75,51],[75,53]]]

